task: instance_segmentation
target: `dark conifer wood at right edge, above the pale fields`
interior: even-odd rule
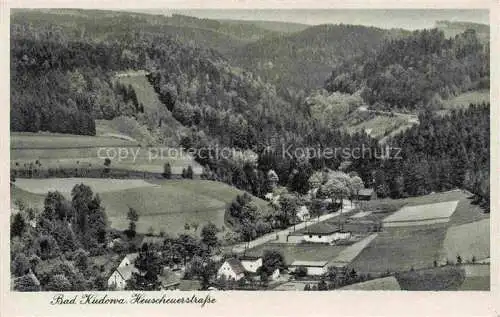
[[[382,196],[404,197],[466,188],[489,206],[490,117],[488,105],[471,105],[444,117],[425,113],[420,124],[394,137],[401,160],[375,172]]]

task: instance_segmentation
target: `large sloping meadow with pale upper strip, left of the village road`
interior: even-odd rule
[[[186,223],[199,224],[198,232],[209,221],[219,229],[222,228],[225,225],[226,205],[242,193],[229,185],[206,180],[163,180],[149,183],[143,180],[75,178],[29,179],[26,182],[23,184],[24,188],[40,194],[13,187],[12,202],[21,199],[26,204],[41,208],[46,195],[46,192],[41,194],[42,191],[57,188],[69,197],[74,184],[83,182],[99,193],[113,228],[128,227],[127,212],[132,207],[139,213],[137,232],[146,233],[152,227],[156,233],[164,230],[173,235],[184,232]],[[254,200],[262,208],[267,208],[267,202],[255,197]],[[190,229],[191,232],[193,230]]]

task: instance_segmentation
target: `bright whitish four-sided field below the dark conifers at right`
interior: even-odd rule
[[[424,221],[449,218],[453,215],[457,207],[458,201],[447,201],[442,203],[427,204],[420,206],[407,206],[390,215],[383,220],[384,226],[390,223],[401,222],[402,225],[408,225],[410,221]],[[447,222],[447,221],[446,221]]]

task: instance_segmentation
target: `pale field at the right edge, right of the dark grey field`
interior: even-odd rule
[[[455,261],[457,255],[470,261],[490,256],[490,221],[484,219],[468,224],[450,227],[443,243],[444,256]]]

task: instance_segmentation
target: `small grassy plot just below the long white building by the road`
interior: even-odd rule
[[[247,250],[246,255],[262,256],[265,250],[275,250],[281,252],[286,264],[290,265],[293,261],[329,261],[345,248],[345,246],[312,243],[266,243]]]

